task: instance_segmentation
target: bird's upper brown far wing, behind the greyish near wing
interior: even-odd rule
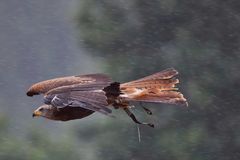
[[[60,77],[55,79],[50,79],[42,81],[32,85],[28,91],[28,96],[33,96],[37,94],[44,94],[52,89],[69,86],[74,84],[86,85],[86,84],[109,84],[111,79],[104,74],[87,74],[79,76],[69,76],[69,77]]]

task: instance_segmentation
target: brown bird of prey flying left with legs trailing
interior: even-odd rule
[[[131,102],[152,102],[186,105],[187,100],[175,87],[178,72],[168,68],[153,75],[127,83],[113,82],[104,74],[87,74],[50,79],[33,84],[28,96],[43,94],[44,105],[33,112],[51,120],[68,121],[87,117],[94,112],[111,115],[112,108],[123,109],[138,124],[131,112]],[[152,112],[143,107],[148,113]]]

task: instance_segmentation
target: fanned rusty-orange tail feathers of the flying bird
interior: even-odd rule
[[[122,97],[128,101],[142,101],[188,105],[183,94],[178,92],[175,78],[178,72],[169,68],[153,75],[120,85]]]

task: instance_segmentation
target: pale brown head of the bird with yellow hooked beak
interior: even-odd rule
[[[33,117],[45,117],[48,119],[52,119],[54,117],[54,111],[57,110],[56,107],[53,107],[52,105],[42,105],[38,107],[33,112]]]

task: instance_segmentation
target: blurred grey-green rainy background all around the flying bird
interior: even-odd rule
[[[1,0],[1,160],[239,160],[240,1]],[[32,119],[35,82],[106,73],[125,82],[168,67],[189,107],[146,104],[54,122]]]

